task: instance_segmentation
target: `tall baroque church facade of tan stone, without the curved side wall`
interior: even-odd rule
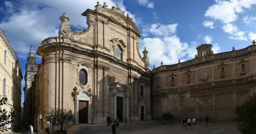
[[[133,19],[99,2],[82,15],[87,30],[71,31],[63,13],[59,36],[38,47],[42,62],[31,91],[34,129],[44,130],[45,116],[55,108],[71,109],[74,124],[106,123],[108,115],[121,122],[151,120],[148,52],[139,53],[142,35]]]

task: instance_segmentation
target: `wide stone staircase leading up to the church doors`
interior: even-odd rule
[[[119,127],[116,128],[116,133],[118,134],[165,125],[161,121],[140,121],[119,124]],[[106,126],[106,124],[71,125],[66,130],[68,134],[112,134],[111,126]]]

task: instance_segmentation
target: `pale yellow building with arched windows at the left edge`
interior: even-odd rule
[[[21,79],[22,73],[20,70],[18,59],[4,35],[0,29],[0,98],[7,97],[7,104],[1,105],[2,111],[9,111],[15,113],[13,123],[9,124],[11,130],[20,128],[20,101],[21,101]],[[11,131],[8,130],[8,131]],[[7,132],[6,130],[0,130],[0,133]]]

